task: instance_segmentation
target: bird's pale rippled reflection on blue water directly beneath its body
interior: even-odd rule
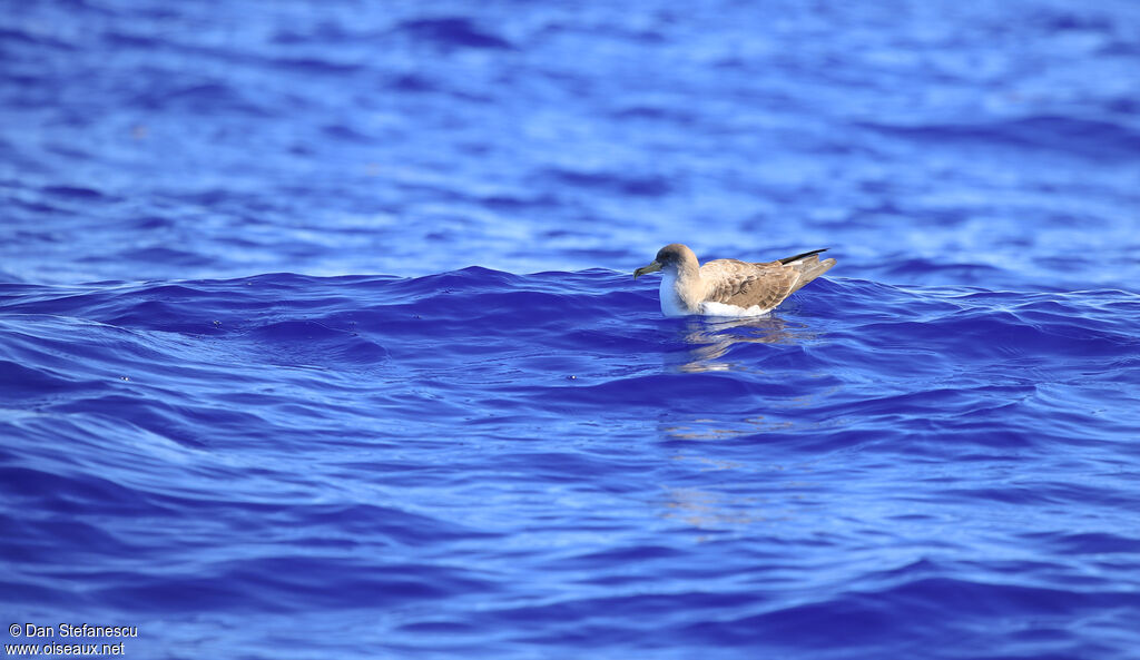
[[[812,339],[807,326],[792,325],[784,319],[767,315],[749,318],[690,317],[685,319],[682,339],[691,349],[677,370],[685,373],[727,372],[743,368],[735,362],[722,360],[733,345],[739,343],[795,344]]]

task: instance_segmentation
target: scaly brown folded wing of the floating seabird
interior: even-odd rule
[[[718,259],[701,267],[708,302],[719,302],[748,309],[759,305],[772,309],[788,298],[799,282],[800,274],[773,261],[747,263],[735,259]]]

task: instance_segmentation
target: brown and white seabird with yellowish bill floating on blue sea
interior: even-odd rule
[[[820,261],[826,250],[760,263],[717,259],[701,266],[689,246],[673,243],[659,250],[652,263],[635,270],[634,279],[661,271],[665,316],[758,316],[834,266],[834,259]]]

